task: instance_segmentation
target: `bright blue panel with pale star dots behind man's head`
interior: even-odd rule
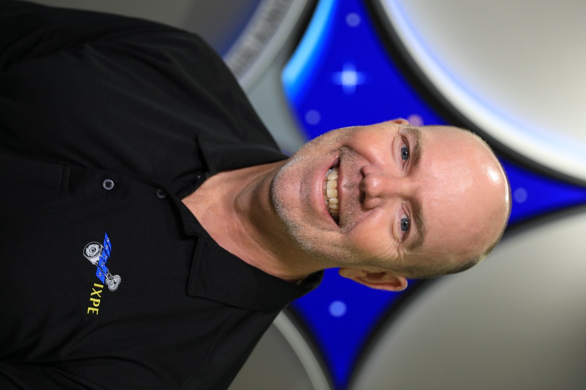
[[[400,73],[359,0],[318,3],[282,83],[306,139],[394,118],[448,124]],[[509,225],[586,203],[585,188],[502,161],[513,195]],[[336,389],[347,388],[364,342],[408,291],[375,291],[328,270],[319,289],[293,303],[321,348]]]

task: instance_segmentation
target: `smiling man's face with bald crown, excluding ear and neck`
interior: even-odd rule
[[[339,222],[323,195],[332,167]],[[271,196],[294,241],[332,267],[458,261],[498,237],[508,204],[505,175],[476,137],[402,120],[323,134],[278,172]]]

